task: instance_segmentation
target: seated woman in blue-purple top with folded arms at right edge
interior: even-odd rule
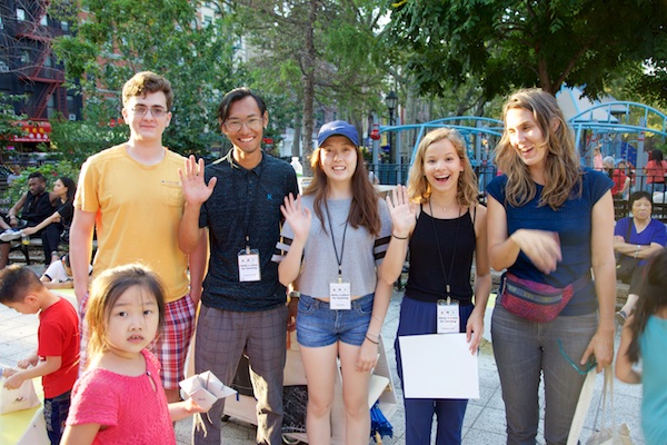
[[[639,259],[629,279],[630,288],[626,304],[616,313],[616,320],[621,326],[639,299],[639,288],[644,280],[643,270],[648,257],[660,251],[667,244],[665,225],[650,217],[653,214],[650,199],[648,191],[635,191],[630,195],[633,216],[619,219],[614,228],[614,250],[618,255]],[[618,278],[624,280],[623,277]]]

